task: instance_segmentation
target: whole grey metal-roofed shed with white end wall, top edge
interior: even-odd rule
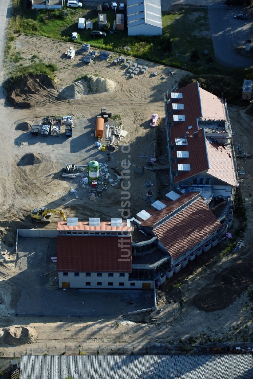
[[[159,36],[162,34],[160,0],[127,0],[127,34]]]

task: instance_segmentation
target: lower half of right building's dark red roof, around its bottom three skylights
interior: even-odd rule
[[[189,158],[178,159],[176,163],[173,164],[173,169],[178,169],[178,163],[190,164],[190,171],[178,171],[177,175],[174,177],[174,183],[178,183],[181,180],[197,175],[200,172],[206,171],[208,166],[207,152],[206,152],[206,137],[204,129],[200,129],[198,132],[194,133],[193,137],[187,138],[187,145],[179,145],[175,150],[172,151],[172,157],[176,155],[177,150],[188,151]]]

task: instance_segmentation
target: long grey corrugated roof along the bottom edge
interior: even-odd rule
[[[159,373],[159,374],[158,374]],[[252,379],[251,355],[25,355],[20,379]]]

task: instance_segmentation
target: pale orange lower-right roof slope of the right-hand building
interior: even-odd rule
[[[231,186],[237,187],[236,173],[230,149],[225,149],[220,144],[207,143],[207,153],[209,160],[209,175],[222,180]]]

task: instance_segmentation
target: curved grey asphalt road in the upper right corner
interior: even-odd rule
[[[219,8],[220,5],[224,4],[215,0],[211,0],[208,5],[208,16],[217,61],[227,67],[253,67],[252,59],[240,56],[235,52],[228,11],[225,8]],[[238,12],[237,9],[233,9],[232,12],[234,11],[235,13],[240,12],[239,9]],[[229,11],[229,16],[231,16],[231,11]],[[234,20],[232,20],[232,33],[240,33],[240,30],[235,30],[236,26],[233,24],[233,21]],[[240,29],[240,20],[236,21],[238,21],[238,29]]]

